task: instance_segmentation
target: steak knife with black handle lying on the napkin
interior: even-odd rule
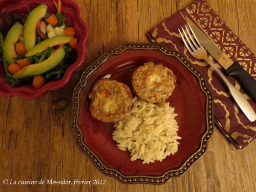
[[[195,32],[203,47],[225,69],[225,73],[235,77],[244,91],[256,101],[256,80],[237,61],[230,59],[212,40],[186,16],[186,22]]]

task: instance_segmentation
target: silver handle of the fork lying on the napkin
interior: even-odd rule
[[[250,103],[246,100],[246,98],[244,98],[243,94],[227,80],[227,78],[223,75],[223,73],[219,70],[219,68],[214,64],[214,62],[212,62],[212,60],[211,61],[207,60],[207,62],[212,68],[214,68],[214,70],[220,75],[220,77],[226,83],[231,96],[233,97],[234,101],[236,101],[236,103],[238,104],[241,111],[245,114],[245,116],[251,122],[255,121],[256,114],[252,109],[252,106],[250,105]]]

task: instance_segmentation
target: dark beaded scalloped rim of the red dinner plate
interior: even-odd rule
[[[95,70],[97,70],[106,59],[112,55],[117,55],[125,50],[155,50],[159,51],[165,55],[174,56],[178,58],[183,66],[189,70],[197,79],[202,92],[206,97],[205,106],[205,118],[206,118],[206,131],[201,138],[201,144],[198,146],[198,150],[191,155],[179,168],[170,169],[163,175],[159,176],[126,176],[120,173],[118,170],[106,167],[101,160],[90,150],[89,147],[83,142],[83,137],[81,130],[79,129],[78,122],[78,111],[79,111],[79,95],[80,91],[86,87],[87,78]],[[159,44],[137,44],[128,43],[124,44],[118,48],[106,51],[101,55],[91,66],[89,66],[80,77],[80,81],[77,83],[73,92],[73,108],[71,116],[71,126],[75,134],[76,144],[83,154],[85,154],[91,162],[98,168],[98,170],[106,175],[115,178],[123,184],[135,184],[135,183],[145,183],[145,184],[163,184],[174,177],[182,176],[192,165],[195,164],[206,152],[207,143],[214,132],[214,113],[213,113],[213,101],[210,90],[205,85],[205,80],[203,75],[197,71],[193,65],[191,65],[179,52],[174,50],[169,50]]]

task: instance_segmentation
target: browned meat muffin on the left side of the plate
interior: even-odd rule
[[[103,122],[123,119],[130,112],[133,100],[126,84],[109,79],[96,82],[89,98],[92,116]]]

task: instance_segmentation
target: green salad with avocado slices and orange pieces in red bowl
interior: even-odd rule
[[[55,6],[56,13],[47,12],[47,5],[41,4],[24,14],[0,14],[0,59],[12,86],[40,88],[60,79],[76,60],[75,30],[65,24],[61,1]]]

